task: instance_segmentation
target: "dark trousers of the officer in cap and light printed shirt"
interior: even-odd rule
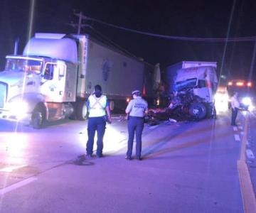
[[[142,153],[142,131],[144,128],[144,119],[129,116],[128,120],[128,148],[127,156],[132,155],[132,145],[134,141],[134,133],[136,134],[136,157],[140,157]]]

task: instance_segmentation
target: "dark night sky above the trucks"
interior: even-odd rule
[[[30,2],[1,0],[0,67],[4,56],[14,51],[14,40],[20,38],[19,53],[29,29]],[[68,23],[78,23],[73,11],[125,28],[151,33],[200,38],[225,38],[256,35],[255,0],[35,0],[32,35],[35,32],[76,33]],[[231,11],[235,6],[233,16]],[[168,40],[139,35],[90,22],[97,31],[129,52],[161,68],[181,60],[217,61],[218,72],[223,60],[225,42],[206,43]],[[230,23],[230,25],[229,25]],[[88,30],[82,30],[82,33]],[[223,73],[248,77],[254,65],[255,42],[228,43]],[[252,69],[255,79],[256,67]]]

